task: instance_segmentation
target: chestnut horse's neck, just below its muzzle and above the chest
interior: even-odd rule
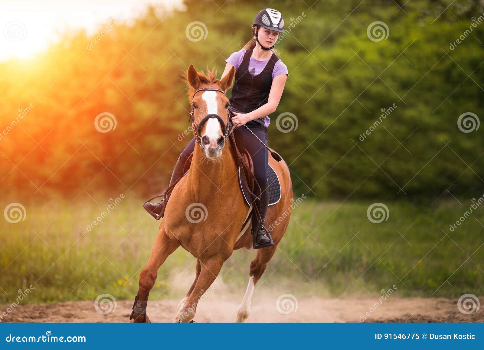
[[[192,163],[188,172],[189,182],[197,197],[212,198],[227,196],[228,191],[238,190],[237,165],[229,150],[230,145],[226,144],[222,150],[222,157],[217,160],[210,160],[205,157],[201,147],[195,147]],[[227,187],[228,186],[228,187]]]

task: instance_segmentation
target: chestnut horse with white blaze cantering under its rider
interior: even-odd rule
[[[205,115],[213,113],[220,116],[227,125],[229,102],[224,92],[232,86],[234,75],[235,69],[232,67],[226,76],[218,80],[216,70],[207,71],[205,75],[190,65],[185,79],[196,124]],[[199,91],[193,96],[195,91],[203,88],[221,91]],[[244,203],[237,164],[228,149],[231,145],[225,142],[225,134],[217,118],[206,119],[200,127],[203,148],[195,145],[190,170],[173,189],[150,259],[139,275],[139,292],[135,304],[138,303],[143,312],[138,314],[136,311],[140,309],[134,308],[134,322],[150,321],[146,315],[147,296],[153,288],[159,267],[179,246],[197,259],[197,271],[192,286],[178,305],[175,322],[191,321],[200,297],[210,288],[223,263],[234,250],[252,246],[251,223],[242,228],[252,206],[248,208]],[[256,258],[250,264],[249,284],[238,309],[238,322],[243,322],[249,316],[250,300],[256,283],[289,223],[292,199],[289,169],[284,160],[275,161],[270,152],[269,164],[281,183],[281,199],[268,208],[264,224],[271,232],[274,245],[257,250]],[[286,219],[274,225],[279,216]]]

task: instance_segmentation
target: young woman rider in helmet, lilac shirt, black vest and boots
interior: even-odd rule
[[[229,98],[229,110],[234,114],[232,123],[238,126],[245,141],[245,147],[254,163],[254,175],[261,188],[260,200],[256,200],[262,223],[253,230],[256,235],[254,249],[265,248],[273,243],[266,235],[263,226],[269,205],[269,182],[267,169],[269,151],[254,137],[247,128],[267,144],[269,114],[274,112],[284,91],[288,76],[286,65],[277,57],[274,50],[279,33],[284,32],[284,19],[279,11],[264,9],[260,11],[252,25],[252,38],[245,46],[230,55],[226,60],[225,76],[235,66],[235,83]],[[245,126],[246,127],[245,127]],[[194,151],[195,138],[185,147],[173,170],[170,184],[178,181],[183,174],[183,166]],[[154,218],[163,217],[167,199],[160,203],[145,203],[143,207]],[[255,218],[253,218],[254,220]]]

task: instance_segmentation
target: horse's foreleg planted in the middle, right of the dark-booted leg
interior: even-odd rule
[[[188,298],[181,304],[174,322],[189,322],[195,317],[197,304],[203,293],[212,286],[222,268],[223,259],[213,257],[203,263],[200,261],[200,274]]]

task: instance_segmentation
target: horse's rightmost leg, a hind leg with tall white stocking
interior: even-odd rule
[[[272,259],[276,249],[276,245],[272,245],[272,247],[257,250],[256,258],[250,263],[249,284],[237,312],[237,322],[243,322],[249,317],[252,293],[254,293],[256,283],[264,273],[267,263]]]

